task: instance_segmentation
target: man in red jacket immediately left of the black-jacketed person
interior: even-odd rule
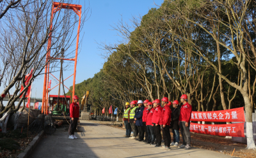
[[[171,134],[170,134],[170,122],[171,122],[171,113],[172,110],[168,105],[168,97],[163,97],[162,105],[164,106],[162,109],[162,115],[160,118],[160,125],[163,126],[163,138],[164,138],[164,146],[163,148],[166,150],[170,150],[171,143]]]

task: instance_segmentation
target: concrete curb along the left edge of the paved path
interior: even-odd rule
[[[36,147],[42,136],[44,135],[44,130],[41,131],[35,138],[29,143],[28,147],[25,148],[25,150],[18,155],[19,158],[27,158],[33,151],[33,149]]]

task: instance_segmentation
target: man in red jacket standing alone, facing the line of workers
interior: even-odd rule
[[[73,97],[73,103],[70,104],[70,126],[68,129],[68,134],[69,134],[69,139],[77,139],[77,137],[75,136],[75,129],[77,126],[77,121],[79,120],[79,97],[74,96]]]

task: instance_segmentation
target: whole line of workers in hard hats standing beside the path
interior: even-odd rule
[[[177,100],[172,103],[168,100],[168,97],[163,97],[161,101],[156,99],[152,102],[139,100],[125,103],[123,117],[126,129],[125,137],[170,150],[171,145],[179,146],[180,129],[183,141],[179,148],[190,149],[189,126],[192,106],[188,103],[186,94],[180,97],[180,102],[182,106],[179,105]],[[172,110],[171,106],[173,106]],[[163,131],[163,146],[161,146],[161,129]],[[173,133],[172,143],[170,129]],[[133,132],[132,136],[131,130]]]

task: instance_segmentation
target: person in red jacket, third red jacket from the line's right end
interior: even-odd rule
[[[159,99],[156,99],[154,101],[154,106],[156,106],[156,108],[152,116],[152,124],[154,126],[154,132],[156,135],[155,147],[161,147],[162,136],[161,136],[161,126],[159,125],[159,123],[160,123],[160,118],[162,113],[162,107]]]

